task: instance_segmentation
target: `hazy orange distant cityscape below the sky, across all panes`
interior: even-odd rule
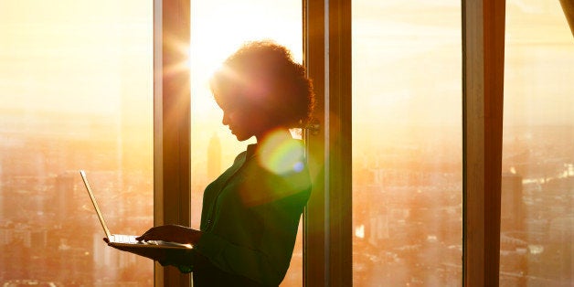
[[[94,134],[101,130],[105,127],[96,126]],[[501,286],[574,282],[572,131],[505,130]],[[384,144],[369,139],[376,133],[368,128],[356,133],[355,146],[361,146],[353,154],[356,286],[462,285],[461,143],[429,136],[436,132],[415,129],[410,133],[417,135],[404,142]],[[138,149],[131,148],[135,140],[97,142],[89,133],[0,133],[2,286],[154,284],[151,260],[102,241],[78,174],[87,170],[112,232],[142,233],[153,225],[149,144]],[[202,164],[204,170],[194,174],[194,207],[200,207],[206,183],[230,163],[217,136],[202,141],[206,148],[197,161],[209,170]],[[300,251],[294,257],[293,269],[301,269]],[[292,271],[283,286],[298,286],[300,278]]]

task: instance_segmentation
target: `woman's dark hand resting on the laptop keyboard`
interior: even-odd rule
[[[170,224],[151,228],[136,239],[139,241],[164,240],[193,245],[199,241],[201,234],[202,232],[196,229]]]

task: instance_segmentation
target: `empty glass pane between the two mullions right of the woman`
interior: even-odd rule
[[[353,2],[353,282],[462,285],[461,1]]]

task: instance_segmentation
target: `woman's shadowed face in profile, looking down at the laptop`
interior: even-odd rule
[[[241,101],[241,98],[228,96],[216,99],[223,111],[221,123],[229,126],[239,142],[249,140],[252,136],[259,137],[271,128],[269,117],[249,101]]]

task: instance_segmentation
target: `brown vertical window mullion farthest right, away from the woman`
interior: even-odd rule
[[[462,1],[463,284],[498,286],[505,1]]]

